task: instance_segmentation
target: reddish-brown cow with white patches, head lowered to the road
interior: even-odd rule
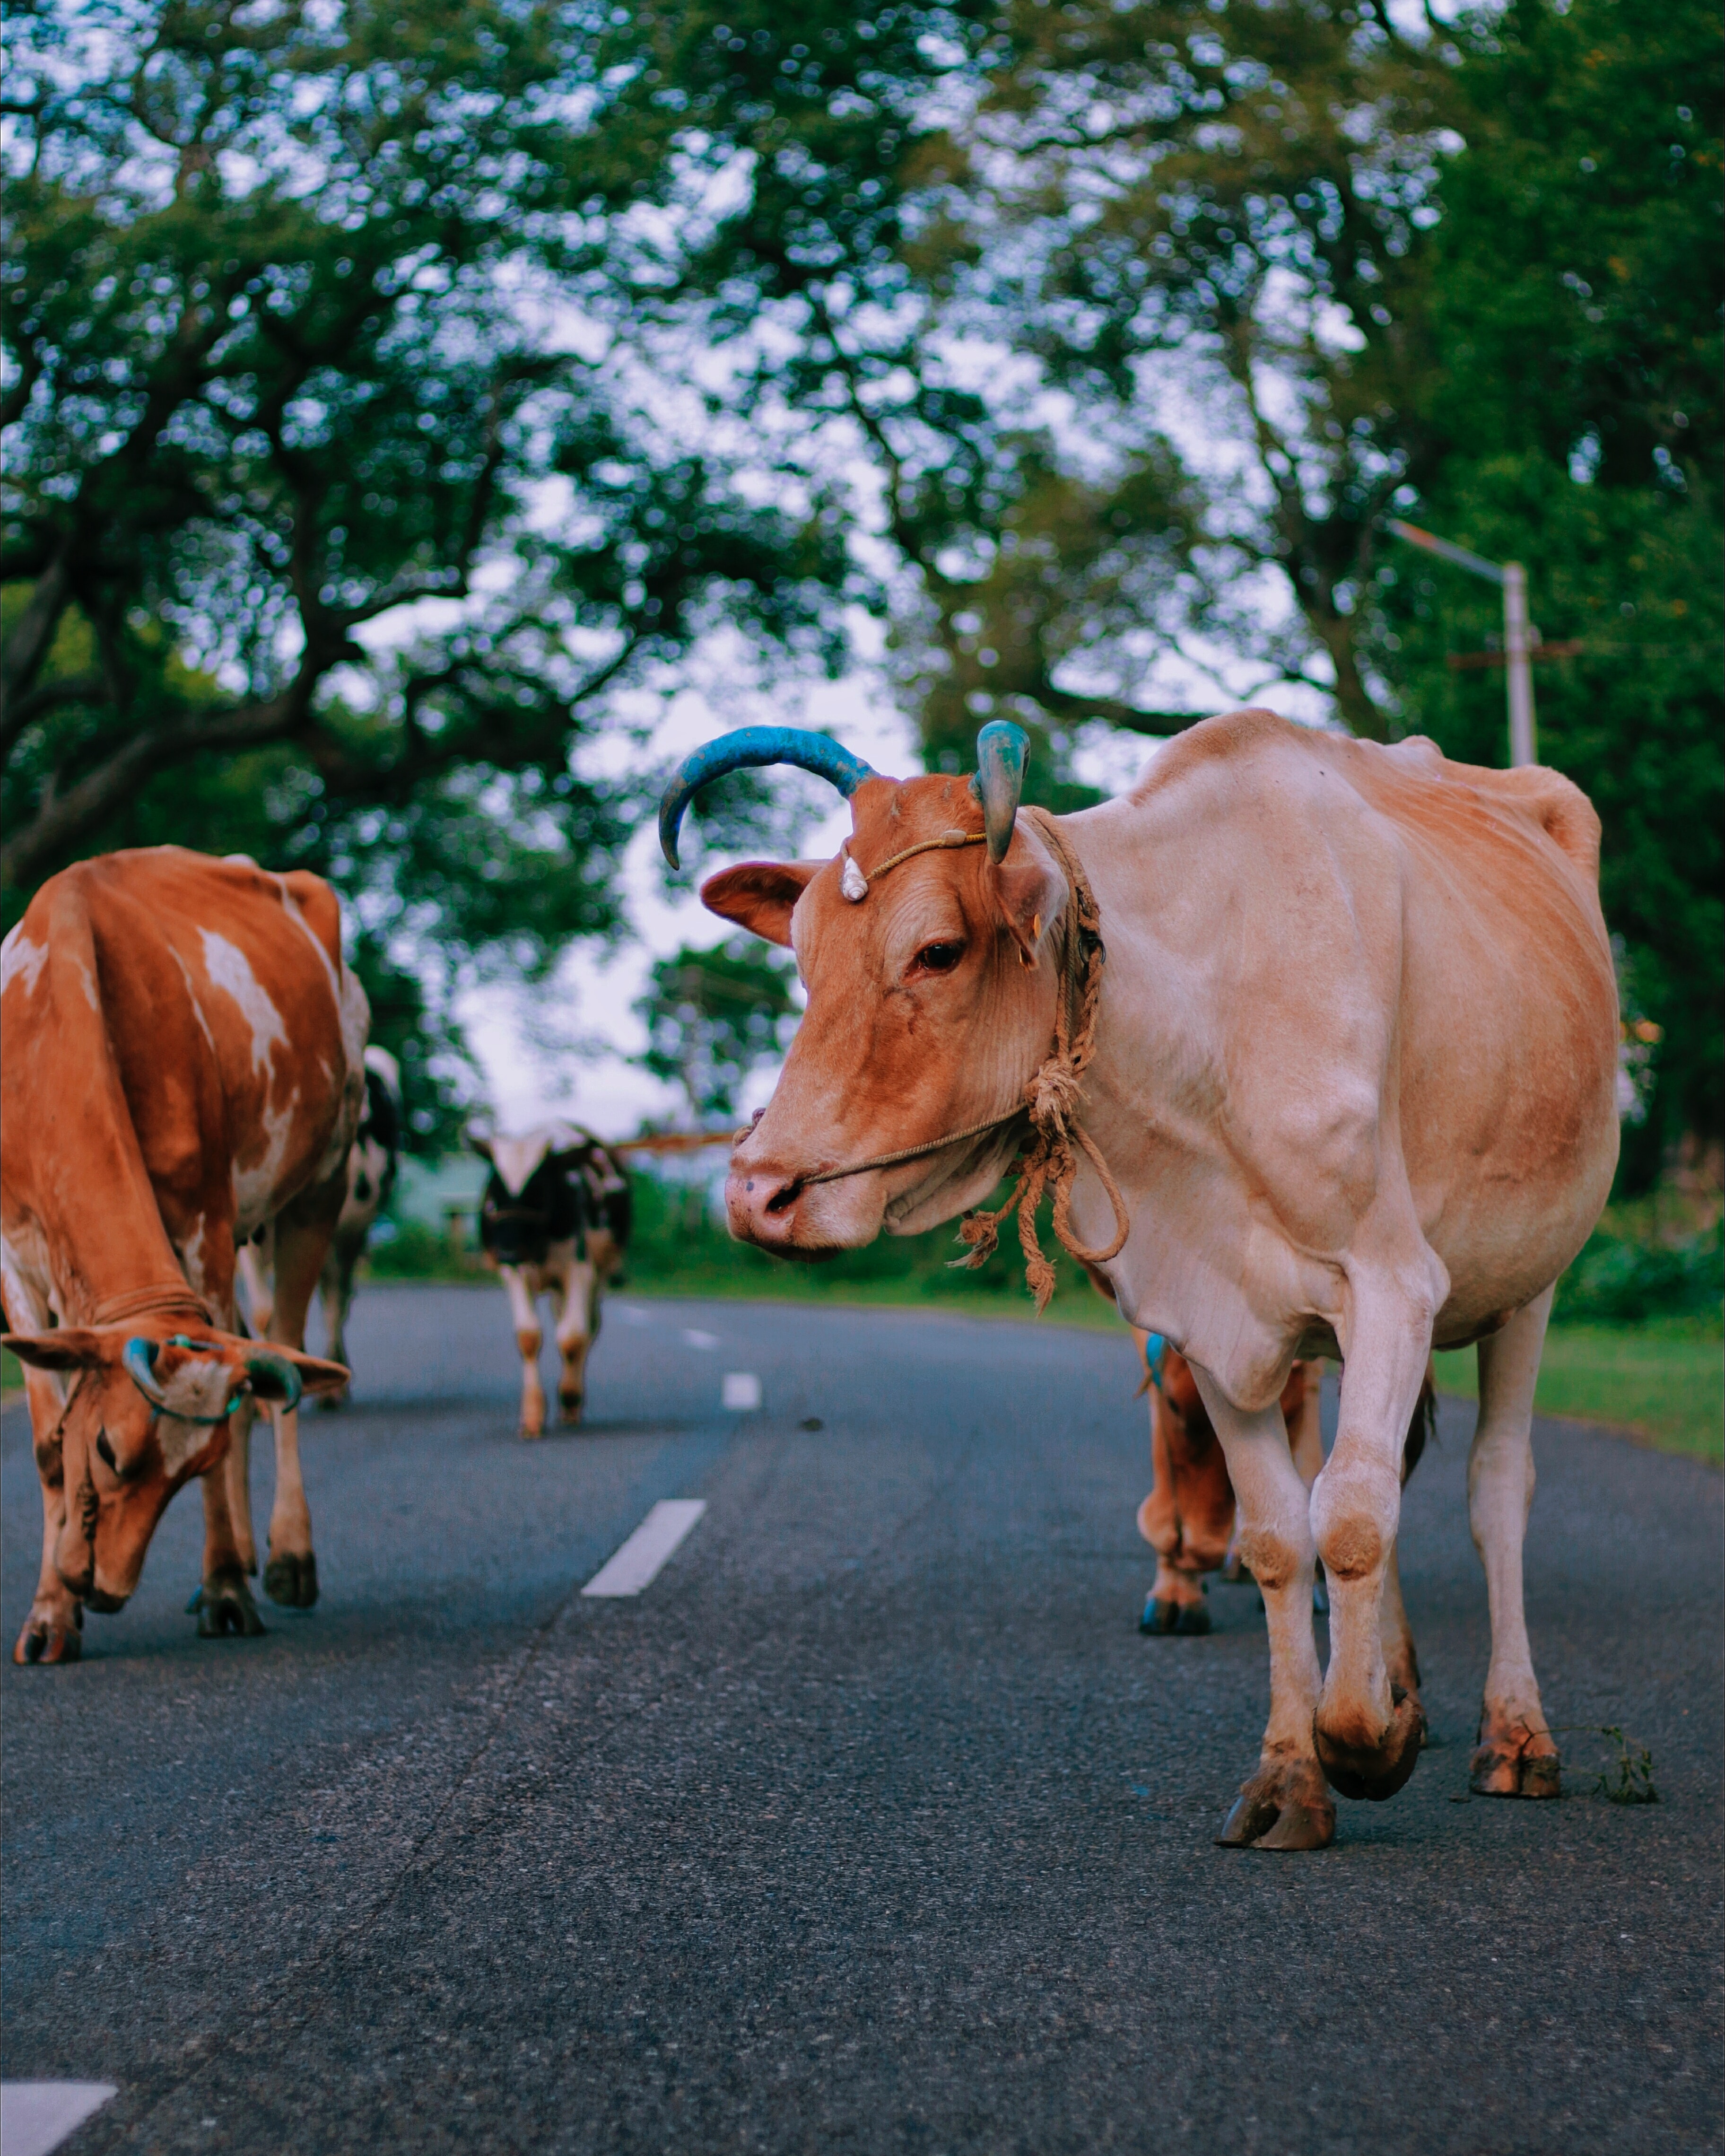
[[[52,877],[0,962],[0,1266],[26,1365],[43,1561],[15,1660],[78,1656],[168,1498],[205,1492],[198,1632],[259,1632],[235,1546],[229,1416],[276,1412],[265,1587],[315,1593],[298,1399],[347,1371],[300,1352],[347,1188],[367,1003],[315,875],[181,847]],[[235,1248],[276,1222],[270,1345],[242,1337]]]

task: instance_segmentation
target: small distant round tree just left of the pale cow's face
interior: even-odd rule
[[[636,1003],[647,1024],[643,1069],[684,1089],[696,1121],[735,1121],[737,1093],[759,1063],[785,1052],[796,1018],[796,968],[750,936],[662,957]]]

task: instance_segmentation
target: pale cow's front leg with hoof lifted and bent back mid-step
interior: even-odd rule
[[[1384,1658],[1384,1580],[1402,1522],[1402,1449],[1432,1352],[1432,1309],[1406,1291],[1356,1285],[1335,1449],[1311,1492],[1330,1595],[1330,1667],[1317,1701],[1317,1757],[1330,1787],[1386,1798],[1419,1764],[1425,1716]]]

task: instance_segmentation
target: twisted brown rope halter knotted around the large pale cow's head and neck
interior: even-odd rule
[[[953,1268],[975,1272],[979,1266],[985,1266],[1000,1246],[1000,1222],[1018,1212],[1018,1242],[1024,1250],[1024,1283],[1037,1298],[1039,1317],[1048,1309],[1048,1298],[1054,1294],[1054,1266],[1044,1255],[1041,1242],[1037,1240],[1037,1205],[1041,1203],[1044,1190],[1050,1190],[1054,1199],[1054,1235],[1080,1266],[1104,1266],[1110,1257],[1117,1257],[1128,1233],[1132,1231],[1132,1220],[1126,1212],[1126,1199],[1119,1194],[1119,1184],[1108,1173],[1108,1162],[1102,1158],[1091,1136],[1076,1123],[1078,1102],[1082,1100],[1078,1078],[1095,1054],[1095,1015],[1102,998],[1102,966],[1106,962],[1106,951],[1102,949],[1102,914],[1078,856],[1054,828],[1052,817],[1035,808],[1024,808],[1020,813],[1035,817],[1035,826],[1059,858],[1067,882],[1065,918],[1061,923],[1061,983],[1054,996],[1054,1046],[1050,1054],[1044,1056],[1035,1076],[1024,1087],[1022,1102],[1007,1108],[1003,1115],[992,1115],[983,1123],[970,1123],[968,1130],[947,1132],[944,1138],[929,1138],[925,1145],[906,1145],[897,1153],[875,1153],[871,1160],[858,1160],[845,1169],[822,1169],[817,1175],[804,1175],[802,1184],[837,1184],[850,1175],[869,1175],[875,1169],[895,1169],[906,1160],[921,1160],[949,1145],[960,1145],[964,1138],[979,1138],[983,1132],[1000,1130],[1005,1123],[1013,1123],[1020,1115],[1029,1112],[1031,1138],[1011,1164],[1013,1192],[998,1212],[988,1214],[977,1210],[964,1216],[960,1222],[960,1240],[970,1248],[964,1257],[953,1259]],[[882,862],[873,873],[884,875],[886,869],[906,860],[912,852],[932,852],[934,847],[955,843],[977,841],[962,841],[957,834],[925,839],[921,847],[908,847],[906,854],[895,854],[893,860]],[[737,1136],[742,1138],[746,1132],[740,1132]],[[1085,1244],[1076,1242],[1072,1233],[1072,1184],[1078,1175],[1074,1141],[1095,1169],[1102,1188],[1108,1192],[1108,1203],[1115,1207],[1115,1240],[1100,1244],[1095,1250],[1085,1248]]]

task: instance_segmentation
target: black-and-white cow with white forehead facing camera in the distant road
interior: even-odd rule
[[[563,1371],[556,1404],[578,1423],[586,1356],[599,1337],[599,1296],[621,1276],[630,1242],[630,1179],[617,1156],[574,1123],[543,1123],[520,1138],[470,1130],[492,1164],[479,1207],[479,1246],[502,1274],[522,1352],[522,1436],[546,1434],[539,1382],[539,1298],[550,1296]]]

